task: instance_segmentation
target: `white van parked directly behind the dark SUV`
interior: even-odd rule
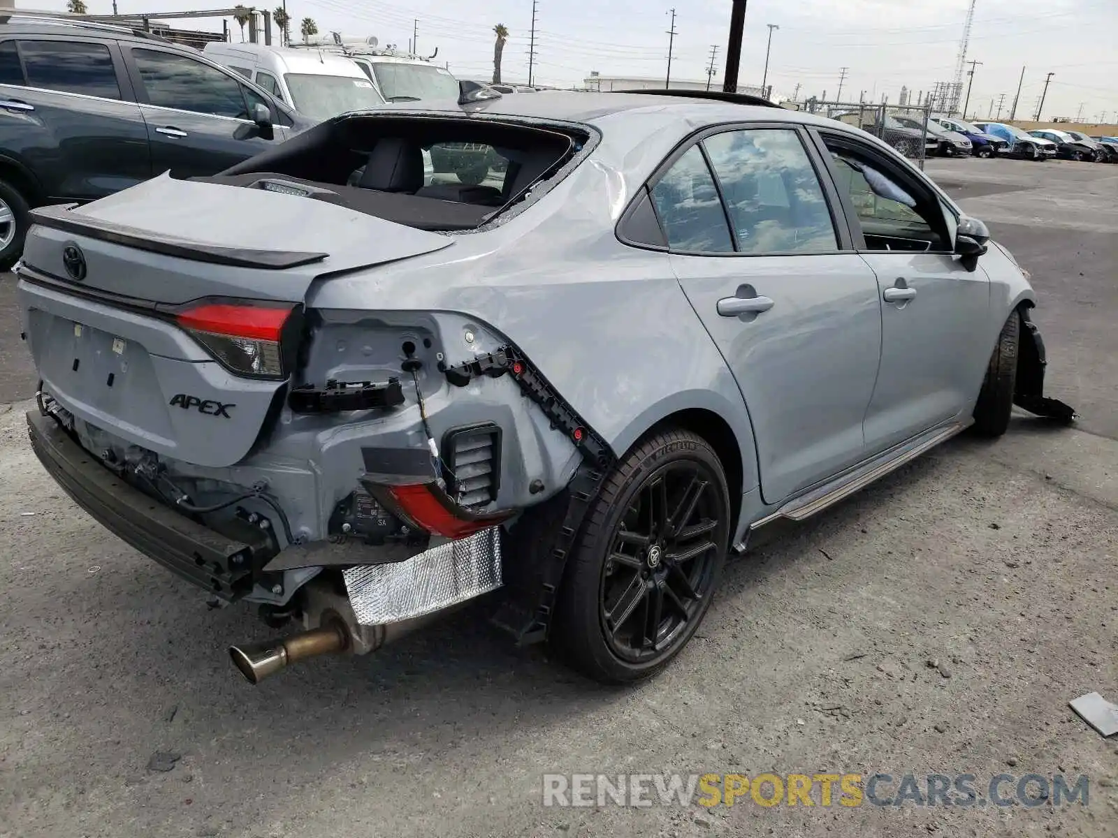
[[[320,122],[385,104],[361,68],[325,50],[211,42],[202,54]]]

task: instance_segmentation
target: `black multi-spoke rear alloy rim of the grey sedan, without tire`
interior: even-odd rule
[[[724,550],[727,510],[714,476],[678,461],[642,484],[601,568],[599,617],[622,660],[663,657],[705,610]]]

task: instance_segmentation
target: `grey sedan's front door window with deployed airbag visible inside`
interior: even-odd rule
[[[949,250],[938,200],[913,193],[878,161],[827,142],[835,184],[850,196],[868,250]]]

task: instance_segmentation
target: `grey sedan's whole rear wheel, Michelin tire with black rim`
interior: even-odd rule
[[[664,430],[637,442],[591,503],[571,551],[549,632],[555,650],[604,684],[663,669],[710,608],[729,530],[726,474],[705,440]]]

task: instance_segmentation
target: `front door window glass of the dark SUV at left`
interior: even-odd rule
[[[233,76],[173,53],[133,49],[148,101],[161,107],[250,118],[244,87]]]

